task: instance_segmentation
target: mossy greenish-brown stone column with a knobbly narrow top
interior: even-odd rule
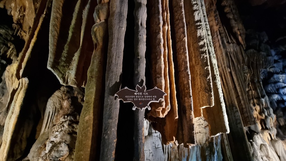
[[[75,145],[74,160],[95,160],[99,157],[99,145],[101,136],[101,116],[103,105],[103,73],[105,72],[107,37],[109,16],[108,2],[98,1],[95,7],[94,21],[91,33],[94,41],[94,52],[87,73],[85,88],[85,101],[78,125],[78,138]],[[92,140],[92,141],[90,141]]]

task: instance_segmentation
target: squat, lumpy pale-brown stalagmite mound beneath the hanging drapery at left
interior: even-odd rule
[[[73,160],[83,98],[80,88],[65,86],[49,98],[41,134],[28,154],[29,160]]]

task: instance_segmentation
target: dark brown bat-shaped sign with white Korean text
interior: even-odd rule
[[[142,87],[137,85],[136,91],[125,87],[115,94],[115,96],[118,96],[118,99],[121,99],[123,102],[132,102],[134,104],[132,110],[138,108],[141,111],[146,108],[151,110],[149,104],[151,102],[159,102],[160,100],[164,100],[165,95],[167,94],[157,87],[146,91],[145,85]]]

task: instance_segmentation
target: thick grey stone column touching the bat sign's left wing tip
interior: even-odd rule
[[[108,19],[108,52],[105,74],[105,99],[100,160],[114,160],[119,100],[115,93],[120,90],[124,34],[126,31],[127,1],[110,1]]]

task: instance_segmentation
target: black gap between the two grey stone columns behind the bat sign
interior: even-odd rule
[[[128,87],[135,89],[133,83],[134,76],[134,1],[128,1],[127,25],[124,37],[123,63],[122,63],[122,83],[121,89]],[[131,102],[123,103],[120,101],[117,141],[115,148],[115,160],[133,160],[134,154],[134,112]],[[123,155],[126,154],[127,155]]]

